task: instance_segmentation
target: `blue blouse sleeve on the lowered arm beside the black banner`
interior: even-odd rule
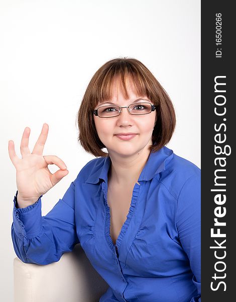
[[[199,173],[188,178],[178,197],[176,225],[181,245],[193,272],[198,295],[190,302],[201,301],[201,179]]]

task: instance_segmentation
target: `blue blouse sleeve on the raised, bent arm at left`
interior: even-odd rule
[[[17,256],[25,263],[40,265],[57,262],[79,243],[75,227],[75,185],[72,182],[46,216],[41,215],[41,195],[25,208],[16,208],[14,198],[12,241]]]

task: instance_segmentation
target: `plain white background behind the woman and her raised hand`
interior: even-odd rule
[[[13,301],[11,238],[16,170],[8,155],[31,128],[29,147],[49,124],[44,155],[69,174],[42,198],[45,215],[94,157],[77,143],[75,116],[94,72],[134,57],[173,101],[177,126],[167,145],[200,167],[200,0],[0,0],[1,300]],[[51,172],[58,170],[50,166]]]

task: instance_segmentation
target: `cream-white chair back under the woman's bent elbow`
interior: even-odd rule
[[[97,302],[107,288],[80,244],[48,265],[14,259],[15,302]]]

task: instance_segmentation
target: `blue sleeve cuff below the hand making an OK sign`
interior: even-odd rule
[[[16,234],[23,240],[32,239],[42,230],[41,195],[32,205],[16,208],[17,194],[14,197],[13,227]]]

